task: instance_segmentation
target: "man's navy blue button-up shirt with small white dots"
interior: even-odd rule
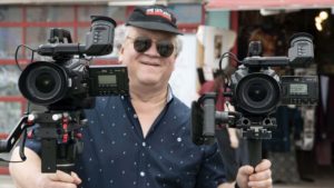
[[[146,137],[128,97],[97,98],[86,116],[79,188],[216,188],[226,180],[217,145],[191,142],[190,110],[175,97]]]

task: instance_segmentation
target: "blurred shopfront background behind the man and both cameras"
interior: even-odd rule
[[[263,43],[262,56],[285,57],[294,33],[313,36],[314,60],[308,67],[273,69],[279,77],[318,78],[318,88],[310,88],[318,93],[318,102],[278,107],[277,127],[273,138],[263,142],[263,158],[273,162],[275,188],[334,188],[334,0],[0,0],[0,139],[28,109],[18,79],[20,69],[31,63],[32,52],[21,48],[16,53],[19,44],[37,49],[48,43],[51,28],[63,28],[73,42],[86,43],[90,16],[110,17],[121,26],[135,6],[153,3],[168,6],[185,33],[170,87],[189,107],[198,99],[200,86],[213,81],[224,52],[242,60],[248,56],[249,41],[257,40]],[[118,63],[116,48],[91,60],[91,65]],[[222,63],[228,76],[238,66],[228,58]],[[244,164],[247,149],[239,141],[237,160]],[[7,166],[0,162],[0,188],[13,187]]]

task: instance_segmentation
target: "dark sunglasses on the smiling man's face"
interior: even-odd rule
[[[139,53],[147,51],[151,47],[153,42],[156,43],[157,51],[160,57],[168,58],[174,51],[174,44],[170,40],[154,41],[148,37],[127,38],[134,41],[134,48]]]

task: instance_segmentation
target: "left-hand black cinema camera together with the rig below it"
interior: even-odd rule
[[[24,160],[27,128],[37,125],[32,136],[41,142],[41,171],[71,170],[84,147],[79,132],[87,122],[84,109],[92,108],[98,96],[128,95],[125,66],[89,66],[89,56],[112,51],[115,27],[111,18],[92,16],[86,44],[72,43],[67,30],[51,29],[50,43],[36,51],[52,60],[31,62],[19,78],[19,89],[33,109],[0,140],[0,152],[9,152],[22,135]]]

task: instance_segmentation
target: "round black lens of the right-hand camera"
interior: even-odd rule
[[[236,89],[239,107],[254,115],[271,112],[279,101],[279,85],[267,75],[248,75]]]

